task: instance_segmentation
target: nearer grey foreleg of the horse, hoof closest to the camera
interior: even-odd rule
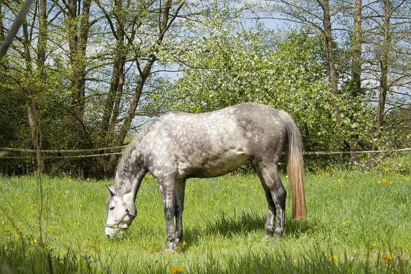
[[[164,204],[164,218],[167,225],[167,246],[166,251],[171,251],[175,247],[175,229],[174,229],[174,215],[175,215],[175,179],[158,178],[158,185]]]

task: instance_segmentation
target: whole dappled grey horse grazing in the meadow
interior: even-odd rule
[[[306,200],[301,134],[286,112],[257,103],[240,103],[202,114],[166,112],[142,129],[123,153],[116,186],[108,187],[105,235],[119,238],[136,218],[138,188],[150,172],[160,186],[166,250],[172,250],[183,238],[186,179],[224,175],[251,161],[269,204],[266,234],[275,232],[275,238],[279,238],[285,228],[286,207],[286,190],[278,174],[283,151],[288,156],[292,217],[303,219]]]

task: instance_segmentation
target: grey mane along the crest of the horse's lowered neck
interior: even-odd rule
[[[132,153],[134,152],[134,150],[136,150],[136,148],[138,147],[138,145],[140,144],[140,142],[142,141],[142,139],[145,138],[145,136],[147,136],[147,134],[149,134],[149,132],[151,131],[151,129],[153,129],[153,127],[155,127],[155,125],[160,121],[160,119],[155,119],[153,120],[149,125],[147,125],[146,127],[143,127],[143,129],[141,129],[141,131],[137,134],[136,137],[133,138],[133,140],[129,143],[129,145],[125,148],[125,151],[123,153],[123,155],[121,156],[121,160],[119,162],[119,166],[117,167],[117,172],[116,175],[114,177],[114,180],[116,182],[117,187],[119,187],[119,184],[121,184],[121,178],[122,177],[128,177],[129,174],[127,174],[127,171],[129,171],[129,166],[134,164],[132,162]]]

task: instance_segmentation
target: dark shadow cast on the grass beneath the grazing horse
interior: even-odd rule
[[[186,227],[184,238],[187,242],[195,243],[207,236],[223,236],[234,238],[244,236],[252,232],[265,233],[266,215],[256,212],[241,212],[240,214],[227,214],[220,212],[214,219],[203,219],[205,225],[192,225]],[[205,227],[204,227],[205,226]],[[296,236],[306,234],[314,225],[307,220],[286,220],[284,236]]]

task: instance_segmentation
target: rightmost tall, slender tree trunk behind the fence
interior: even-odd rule
[[[388,54],[390,53],[390,1],[384,0],[384,38],[382,41],[381,56],[379,57],[379,65],[381,67],[381,75],[379,79],[379,97],[377,105],[377,121],[375,124],[375,135],[379,136],[384,122],[385,102],[388,91]]]

